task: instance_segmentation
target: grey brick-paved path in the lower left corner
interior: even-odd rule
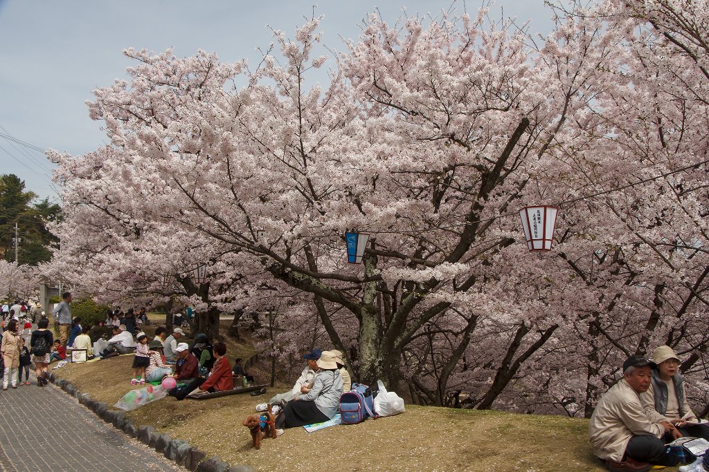
[[[0,391],[0,471],[186,471],[32,380]]]

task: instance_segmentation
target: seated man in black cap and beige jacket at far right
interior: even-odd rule
[[[591,415],[588,436],[593,454],[605,460],[609,471],[647,471],[650,464],[675,466],[679,456],[666,451],[665,433],[680,437],[669,421],[652,422],[640,393],[650,386],[650,371],[657,364],[633,355],[623,362],[623,379],[598,401]]]

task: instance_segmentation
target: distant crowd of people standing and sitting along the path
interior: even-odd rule
[[[145,331],[140,330],[150,321],[147,310],[137,312],[128,309],[108,310],[103,320],[93,326],[82,326],[82,319],[72,317],[72,294],[62,294],[62,301],[52,310],[56,323],[57,338],[49,329],[49,319],[43,312],[37,313],[37,328],[21,314],[32,309],[16,309],[9,306],[4,316],[4,333],[1,341],[3,369],[3,388],[17,388],[29,385],[29,369],[34,364],[37,385],[44,386],[48,379],[48,365],[67,359],[69,350],[85,350],[86,359],[107,359],[118,355],[133,354],[132,386],[146,382],[161,382],[165,377],[173,377],[179,386],[169,393],[182,399],[194,391],[223,391],[234,388],[234,379],[248,385],[254,381],[245,372],[242,359],[235,359],[232,368],[226,357],[226,345],[212,343],[205,333],[199,333],[189,342],[184,326],[189,326],[189,319],[194,317],[194,309],[189,307],[186,315],[174,316],[174,329],[168,332],[164,326],[155,328],[152,340]],[[38,304],[35,304],[38,306]],[[41,307],[41,306],[39,306]],[[36,318],[35,318],[36,319]],[[21,328],[23,327],[23,328]],[[27,342],[23,339],[26,336]],[[27,346],[26,346],[27,344]],[[22,375],[24,374],[24,381]]]

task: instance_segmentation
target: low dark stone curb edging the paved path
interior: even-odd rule
[[[222,461],[220,457],[213,456],[209,459],[206,454],[189,444],[189,442],[181,439],[171,439],[169,434],[160,434],[155,431],[152,426],[136,427],[133,420],[125,418],[125,413],[122,411],[113,411],[108,409],[108,405],[102,401],[96,401],[88,393],[82,393],[77,390],[76,386],[65,379],[58,379],[54,372],[50,372],[49,379],[52,384],[61,388],[69,395],[77,398],[79,403],[89,408],[96,416],[111,423],[113,427],[123,431],[130,437],[138,439],[138,441],[155,449],[170,461],[176,462],[179,466],[184,466],[190,471],[197,472],[256,472],[251,466],[229,466]]]

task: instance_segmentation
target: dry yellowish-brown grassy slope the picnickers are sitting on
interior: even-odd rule
[[[232,357],[231,355],[229,357]],[[113,405],[130,390],[132,356],[68,364],[55,374],[80,391]],[[295,376],[296,374],[294,374]],[[282,388],[281,388],[282,389]],[[248,393],[210,400],[172,397],[128,413],[136,425],[152,425],[258,471],[603,471],[588,444],[586,420],[407,405],[401,415],[308,433],[286,430],[251,449],[241,421],[266,395]]]

